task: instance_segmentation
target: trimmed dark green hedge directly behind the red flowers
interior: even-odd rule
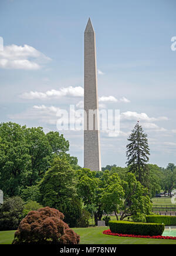
[[[162,235],[164,224],[130,221],[109,221],[111,232],[128,235]]]

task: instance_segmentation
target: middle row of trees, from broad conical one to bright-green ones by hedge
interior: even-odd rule
[[[29,192],[29,194],[28,194]],[[131,217],[144,220],[150,214],[152,204],[147,189],[128,172],[121,179],[116,169],[104,172],[90,169],[75,170],[66,157],[56,157],[33,193],[25,189],[25,196],[38,200],[43,206],[59,209],[65,214],[65,221],[75,227],[88,211],[97,224],[103,213],[123,211],[120,220]],[[23,194],[22,194],[23,196]]]

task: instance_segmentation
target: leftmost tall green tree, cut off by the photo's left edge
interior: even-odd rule
[[[28,182],[31,157],[24,131],[15,123],[0,124],[0,187],[5,195],[18,195]]]

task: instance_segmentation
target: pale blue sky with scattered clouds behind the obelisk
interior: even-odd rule
[[[56,109],[83,101],[83,32],[90,17],[99,97],[107,97],[100,104],[121,113],[120,136],[101,132],[102,165],[125,165],[127,137],[138,119],[150,162],[176,164],[175,11],[175,0],[1,0],[1,121],[56,131]],[[62,133],[83,165],[83,132]]]

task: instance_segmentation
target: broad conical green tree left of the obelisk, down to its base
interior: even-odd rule
[[[66,157],[56,157],[39,182],[40,202],[62,211],[70,227],[75,227],[81,216],[81,204],[76,194],[75,171]]]

